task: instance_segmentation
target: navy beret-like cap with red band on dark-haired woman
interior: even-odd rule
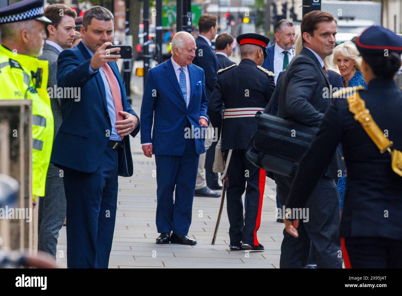
[[[402,38],[380,26],[368,27],[356,39],[361,56],[382,56],[385,50],[402,54]]]

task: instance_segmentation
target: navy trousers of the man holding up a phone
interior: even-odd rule
[[[118,150],[107,147],[92,173],[64,168],[67,267],[107,268],[117,208]]]

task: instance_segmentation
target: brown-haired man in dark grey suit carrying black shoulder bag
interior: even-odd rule
[[[318,127],[331,103],[329,82],[324,58],[332,54],[335,46],[336,20],[321,10],[306,14],[301,22],[303,49],[283,74],[279,91],[278,116],[303,126]],[[298,130],[292,137],[303,137]],[[296,151],[295,151],[296,152]],[[320,151],[316,151],[320,153]],[[342,268],[340,256],[339,194],[334,179],[338,170],[343,172],[340,154],[332,159],[326,173],[320,177],[310,195],[306,217],[299,217],[299,238],[283,232],[281,268],[306,268],[311,244],[316,250],[319,268]],[[309,172],[315,174],[315,172]],[[285,205],[292,179],[274,174],[279,200]],[[291,209],[297,213],[297,209]],[[283,213],[284,214],[284,213]]]

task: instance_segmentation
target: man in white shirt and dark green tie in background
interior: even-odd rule
[[[267,48],[267,58],[263,62],[263,68],[274,72],[275,84],[279,73],[286,70],[287,65],[293,59],[293,44],[295,44],[295,27],[287,19],[280,20],[275,24],[275,40],[273,46]]]

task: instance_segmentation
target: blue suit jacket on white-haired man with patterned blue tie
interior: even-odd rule
[[[182,155],[186,146],[185,128],[191,124],[195,133],[200,128],[199,117],[208,118],[203,69],[193,64],[187,66],[191,85],[187,108],[171,59],[148,72],[142,98],[141,143],[152,143],[152,153],[156,155]],[[194,138],[196,153],[204,153],[204,139]]]

